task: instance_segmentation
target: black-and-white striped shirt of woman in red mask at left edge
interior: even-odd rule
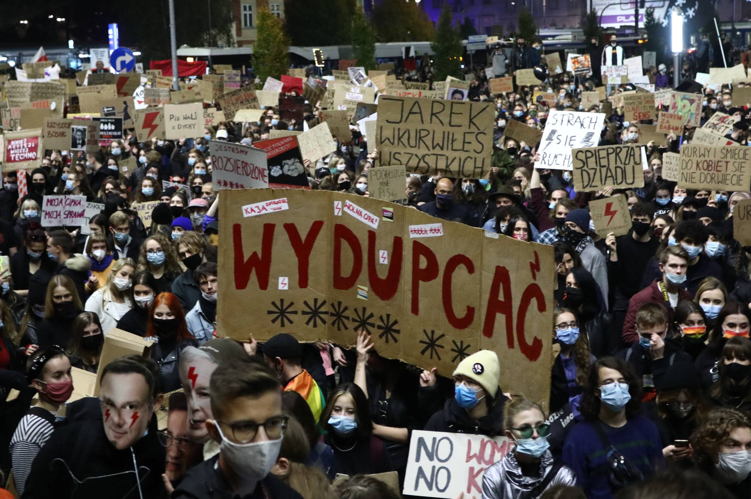
[[[26,479],[32,471],[34,458],[37,457],[39,449],[50,439],[54,429],[54,426],[46,419],[33,414],[26,414],[18,423],[11,438],[13,476],[18,497],[23,495],[23,490],[26,488]]]

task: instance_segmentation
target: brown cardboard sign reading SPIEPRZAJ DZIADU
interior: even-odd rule
[[[638,146],[602,146],[572,149],[574,188],[599,191],[606,187],[644,187]]]

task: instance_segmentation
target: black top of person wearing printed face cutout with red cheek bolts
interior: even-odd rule
[[[74,422],[56,428],[39,451],[23,497],[139,499],[135,458],[143,499],[161,499],[164,454],[155,416],[149,422],[148,434],[123,450],[115,449],[107,440],[104,425],[99,422],[92,419]]]

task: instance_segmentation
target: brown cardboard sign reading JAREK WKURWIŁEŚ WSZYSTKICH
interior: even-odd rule
[[[487,179],[494,123],[492,104],[382,95],[375,148],[410,173]]]

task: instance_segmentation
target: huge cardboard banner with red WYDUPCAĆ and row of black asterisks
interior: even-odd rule
[[[490,349],[504,391],[547,403],[552,247],[330,191],[225,191],[219,203],[219,334],[354,344],[364,330],[381,355],[446,375]]]

